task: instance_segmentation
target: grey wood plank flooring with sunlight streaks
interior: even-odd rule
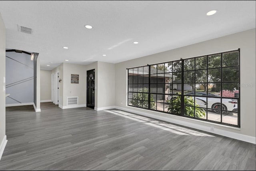
[[[254,144],[110,109],[6,107],[0,170],[256,170]]]

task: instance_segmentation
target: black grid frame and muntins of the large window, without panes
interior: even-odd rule
[[[238,52],[238,65],[234,65],[234,66],[223,66],[223,54],[228,54],[228,53],[232,53],[232,52]],[[215,67],[215,68],[208,68],[208,58],[209,58],[209,56],[214,56],[214,55],[220,55],[220,67]],[[206,68],[203,68],[203,69],[196,69],[196,59],[197,58],[203,58],[203,57],[205,57],[206,58]],[[190,59],[193,59],[194,58],[194,70],[186,70],[186,71],[184,71],[184,60],[190,60]],[[174,64],[174,62],[180,62],[181,63],[181,71],[175,71],[174,72],[174,69],[173,69],[173,64]],[[166,64],[170,64],[171,63],[171,65],[172,65],[172,68],[171,68],[171,72],[170,71],[168,71],[168,72],[166,72],[165,71],[165,66],[166,66]],[[164,65],[164,71],[163,71],[163,73],[158,73],[158,65],[159,64],[163,64]],[[156,73],[154,73],[154,74],[156,74],[156,83],[154,83],[154,84],[156,84],[156,93],[151,93],[151,87],[150,87],[150,75],[151,75],[151,66],[156,66]],[[138,68],[143,68],[143,74],[138,74],[138,75],[136,75],[136,76],[143,76],[143,78],[142,78],[142,89],[143,89],[143,91],[141,92],[141,93],[144,93],[144,76],[146,75],[146,76],[148,76],[148,92],[147,92],[147,94],[148,94],[148,108],[144,108],[143,107],[143,104],[142,104],[142,107],[138,107],[138,99],[137,99],[137,106],[134,106],[134,105],[129,105],[129,95],[128,95],[128,101],[127,101],[127,105],[128,106],[132,106],[132,107],[138,107],[138,108],[142,108],[142,109],[148,109],[148,110],[152,110],[152,111],[158,111],[158,112],[163,112],[163,113],[168,113],[168,114],[172,114],[172,115],[177,115],[176,113],[172,113],[172,112],[167,112],[167,111],[165,111],[166,109],[165,109],[165,105],[166,104],[169,104],[169,105],[171,105],[171,110],[172,110],[172,105],[173,105],[173,103],[172,103],[172,100],[170,101],[170,103],[167,103],[167,101],[165,101],[165,98],[164,98],[164,101],[163,102],[158,102],[158,99],[157,99],[157,95],[158,94],[160,94],[160,95],[163,95],[164,97],[165,97],[165,95],[171,95],[171,96],[174,96],[174,94],[173,94],[173,74],[174,73],[180,73],[181,72],[181,85],[182,85],[182,91],[181,91],[181,95],[178,95],[178,96],[181,96],[181,101],[182,101],[182,103],[180,104],[180,107],[181,107],[181,114],[180,114],[180,116],[182,116],[182,117],[189,117],[189,118],[193,118],[193,119],[198,119],[198,120],[202,120],[202,121],[206,121],[206,122],[212,122],[212,123],[218,123],[218,124],[220,124],[220,125],[229,125],[229,126],[232,126],[232,127],[240,127],[240,93],[241,93],[241,91],[240,91],[240,86],[238,86],[238,91],[239,91],[239,93],[238,93],[238,97],[223,97],[223,95],[222,95],[222,91],[223,91],[223,83],[237,83],[237,84],[239,84],[240,85],[240,48],[238,48],[237,50],[232,50],[232,51],[225,51],[225,52],[220,52],[220,53],[216,53],[216,54],[208,54],[208,55],[204,55],[204,56],[197,56],[197,57],[192,57],[192,58],[186,58],[186,59],[180,59],[180,60],[174,60],[174,61],[170,61],[170,62],[161,62],[161,63],[158,63],[158,64],[151,64],[151,65],[145,65],[145,66],[139,66],[139,67],[134,67],[134,68],[137,68],[137,70],[138,70]],[[144,74],[144,67],[148,67],[148,70],[149,70],[149,72],[148,72],[148,74]],[[234,67],[238,67],[238,81],[226,81],[226,82],[223,82],[223,68],[234,68]],[[128,93],[139,93],[139,91],[137,90],[137,92],[136,91],[134,91],[134,89],[132,90],[132,91],[129,91],[129,85],[131,85],[131,84],[129,84],[129,70],[130,69],[134,69],[134,68],[127,68],[128,69]],[[210,70],[210,69],[220,69],[221,71],[220,71],[220,74],[221,74],[221,79],[220,79],[220,82],[208,82],[208,70]],[[198,82],[196,82],[196,71],[200,71],[200,70],[206,70],[206,82],[200,82],[200,83],[198,83]],[[194,83],[190,83],[190,82],[186,82],[186,83],[184,83],[184,72],[188,72],[188,71],[194,71]],[[137,73],[138,73],[138,71],[137,71]],[[165,92],[163,92],[163,93],[158,93],[158,74],[164,74],[164,83],[160,83],[160,84],[163,84],[164,85],[164,89],[165,89],[165,86],[166,86],[166,83],[165,83],[165,78],[166,78],[166,76],[165,76],[165,74],[172,74],[172,82],[170,83],[168,83],[168,85],[169,85],[169,88],[170,88],[170,84],[172,84],[172,89],[171,90],[169,90],[169,93],[165,93]],[[133,78],[133,76],[134,76],[134,72],[133,72],[133,75],[132,75],[132,78]],[[138,78],[137,78],[138,79]],[[132,85],[134,84],[134,82],[132,82]],[[187,105],[184,105],[184,85],[185,84],[194,84],[194,95],[186,95],[186,96],[190,96],[190,97],[194,97],[194,106],[193,106],[193,108],[194,108],[194,117],[191,117],[191,116],[187,116],[187,115],[184,115],[184,107],[185,106],[187,106]],[[196,84],[206,84],[206,95],[200,95],[199,97],[206,97],[206,108],[205,107],[197,107],[197,108],[202,108],[202,109],[204,109],[205,110],[205,113],[206,113],[206,117],[205,117],[205,119],[203,119],[203,118],[198,118],[198,117],[196,117],[196,106],[195,106],[195,98],[196,97],[198,97],[198,95],[196,96]],[[215,96],[209,96],[208,95],[208,84],[220,84],[220,96],[217,96],[217,97],[215,97]],[[138,85],[138,80],[137,80],[137,85]],[[171,91],[171,92],[170,92]],[[155,94],[156,95],[156,101],[151,101],[150,100],[150,97],[151,97],[151,94]],[[235,112],[234,111],[234,113],[237,113],[237,125],[233,125],[233,124],[230,124],[230,123],[224,123],[223,121],[222,121],[222,111],[228,111],[228,110],[222,110],[222,107],[220,107],[220,119],[221,119],[221,121],[219,122],[219,121],[212,121],[212,120],[208,120],[208,110],[211,110],[212,108],[208,108],[208,98],[217,98],[217,99],[220,99],[220,103],[221,103],[221,105],[222,105],[222,99],[237,99],[237,101],[238,101],[238,103],[237,103],[237,107],[238,107],[238,110]],[[132,99],[133,99],[133,97],[132,97]],[[130,99],[131,100],[131,99]],[[142,100],[142,101],[144,101],[144,100]],[[155,106],[155,109],[151,109],[151,104],[150,104],[150,102],[154,102],[154,103],[156,103],[156,106]],[[158,103],[162,103],[163,104],[163,106],[164,106],[164,109],[161,111],[161,110],[157,110],[158,108],[157,108],[157,104]],[[189,106],[189,107],[192,107],[192,106]]]

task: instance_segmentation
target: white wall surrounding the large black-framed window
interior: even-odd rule
[[[215,130],[228,131],[228,134],[232,135],[245,135],[249,136],[255,141],[256,137],[256,117],[255,117],[255,29],[231,34],[221,38],[200,42],[190,46],[129,60],[116,64],[116,92],[115,100],[116,106],[126,110],[133,110],[138,112],[146,112],[154,117],[166,117],[172,121],[187,122],[194,125],[203,125],[207,129],[211,126],[215,127]],[[129,107],[127,105],[127,73],[126,68],[132,68],[136,66],[144,66],[146,64],[156,64],[160,62],[169,62],[174,60],[180,60],[180,58],[186,59],[196,56],[203,56],[207,54],[214,54],[217,52],[224,52],[227,50],[233,50],[240,48],[240,94],[241,94],[241,128],[234,128],[214,123],[208,123],[205,121],[198,121],[185,117],[177,117],[166,113],[154,112],[145,109],[138,109],[135,107]],[[121,103],[123,102],[123,103]]]

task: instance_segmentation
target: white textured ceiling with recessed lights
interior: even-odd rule
[[[6,48],[37,52],[41,69],[51,70],[65,59],[118,63],[249,30],[255,28],[255,6],[255,1],[2,0],[0,13]],[[206,16],[213,9],[218,12]],[[32,34],[19,32],[18,25],[32,28]]]

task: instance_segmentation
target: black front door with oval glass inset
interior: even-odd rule
[[[87,71],[87,102],[86,106],[94,109],[95,70]]]

